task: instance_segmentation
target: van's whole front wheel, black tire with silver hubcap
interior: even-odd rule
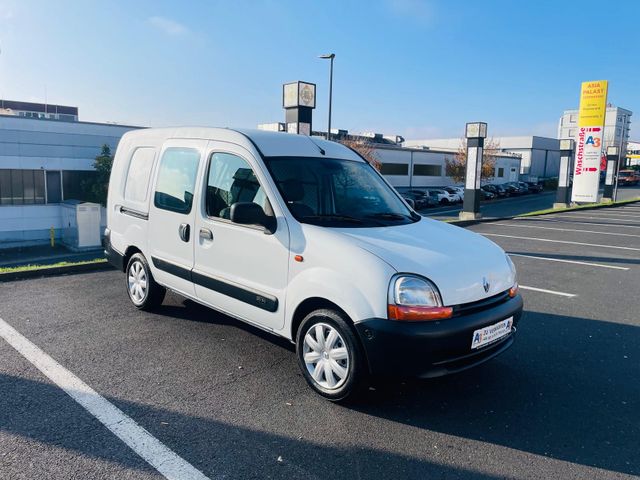
[[[367,377],[362,347],[341,312],[321,309],[302,321],[296,353],[309,386],[337,402],[357,393]]]

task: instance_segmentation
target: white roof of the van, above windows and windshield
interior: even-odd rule
[[[127,140],[134,142],[136,140],[162,142],[179,138],[233,142],[248,150],[257,148],[259,153],[265,157],[327,157],[363,161],[353,150],[337,142],[329,142],[320,137],[292,135],[266,130],[168,127],[134,130],[127,132],[124,136]]]

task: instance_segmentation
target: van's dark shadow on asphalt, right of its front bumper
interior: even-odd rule
[[[459,375],[383,384],[359,411],[640,474],[640,328],[525,312],[509,352]]]

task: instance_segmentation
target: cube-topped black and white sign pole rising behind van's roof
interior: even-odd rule
[[[315,83],[285,83],[282,86],[282,108],[287,132],[310,136],[313,109],[316,108]]]

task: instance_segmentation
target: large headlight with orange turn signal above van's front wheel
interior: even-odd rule
[[[450,318],[452,307],[443,307],[436,286],[426,278],[398,275],[389,285],[388,314],[392,320],[440,320]]]

